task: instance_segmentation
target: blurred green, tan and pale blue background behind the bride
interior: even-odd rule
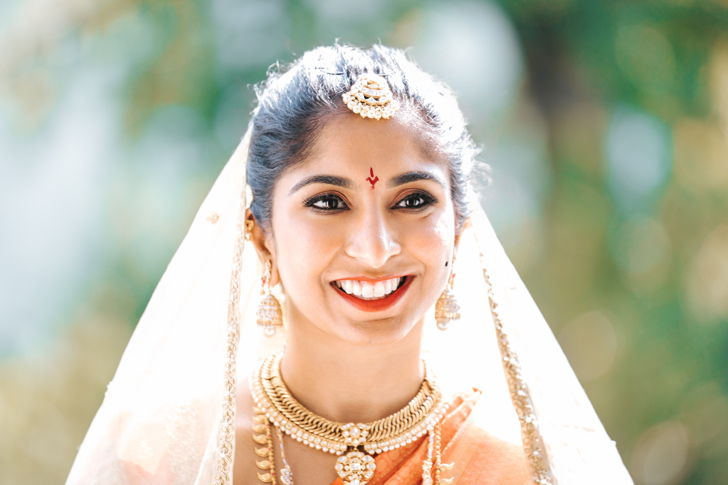
[[[63,483],[253,84],[335,39],[458,93],[636,484],[728,484],[727,0],[0,1],[0,484]]]

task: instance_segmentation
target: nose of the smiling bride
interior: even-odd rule
[[[351,257],[381,268],[390,257],[400,254],[402,247],[395,234],[387,228],[384,214],[380,211],[368,211],[357,221],[355,231],[349,236],[345,251]]]

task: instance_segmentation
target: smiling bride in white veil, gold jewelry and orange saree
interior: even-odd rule
[[[67,484],[631,484],[476,154],[400,50],[272,73]]]

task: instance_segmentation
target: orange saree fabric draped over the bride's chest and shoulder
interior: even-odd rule
[[[457,485],[533,484],[523,449],[473,422],[472,410],[478,398],[480,391],[470,396],[458,394],[443,418],[443,463],[454,463],[454,467],[440,478],[454,478],[452,483]],[[376,473],[368,485],[422,484],[422,461],[426,456],[427,438],[379,454],[374,460]],[[331,485],[342,485],[341,478]]]

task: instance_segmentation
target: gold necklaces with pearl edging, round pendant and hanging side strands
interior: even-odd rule
[[[442,401],[440,388],[427,366],[419,392],[403,409],[375,422],[343,423],[313,414],[290,395],[280,375],[281,358],[282,353],[269,356],[250,378],[250,393],[256,404],[253,412],[258,414],[253,422],[266,420],[266,425],[272,423],[281,437],[285,433],[311,448],[339,455],[335,468],[344,485],[365,485],[371,479],[376,470],[374,454],[405,446],[426,434],[432,436],[430,439],[434,442],[435,434],[439,434],[437,425],[448,404]],[[253,430],[256,433],[264,431],[255,427]],[[265,438],[262,434],[253,436],[261,444]],[[428,454],[430,465],[426,470],[427,460],[423,464],[423,477],[426,471],[432,470],[432,450]],[[437,454],[439,467],[439,449]],[[282,471],[281,476],[285,474],[290,478],[287,463],[286,468],[288,473]],[[448,484],[445,481],[438,485]]]

